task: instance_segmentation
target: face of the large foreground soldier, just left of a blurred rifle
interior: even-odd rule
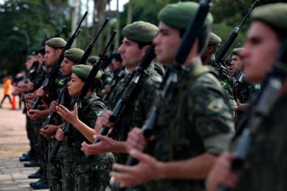
[[[180,45],[180,31],[162,22],[159,23],[158,29],[158,35],[153,39],[153,43],[156,45],[156,61],[168,65],[172,63]]]

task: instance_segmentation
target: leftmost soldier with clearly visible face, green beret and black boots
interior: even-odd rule
[[[53,37],[45,42],[45,68],[47,71],[51,71],[54,64],[57,64],[57,60],[61,55],[61,51],[66,45],[66,41],[60,37]],[[40,77],[39,77],[40,78]],[[43,79],[43,78],[42,78]],[[42,83],[39,81],[39,84]],[[42,87],[38,88],[35,91],[35,96],[42,97],[42,103],[44,103],[44,107],[39,105],[36,110],[28,110],[28,117],[34,120],[34,127],[37,132],[37,138],[40,139],[40,163],[43,169],[42,177],[39,181],[35,183],[30,183],[30,186],[34,189],[43,189],[48,188],[47,183],[47,158],[48,158],[48,141],[45,137],[42,137],[40,134],[40,129],[42,124],[45,122],[46,117],[49,115],[49,108],[47,107],[52,100],[57,98],[61,87],[64,84],[63,76],[61,76],[61,72],[59,71],[54,79],[49,82],[49,93],[45,92]],[[53,129],[46,129],[47,131],[52,131]]]

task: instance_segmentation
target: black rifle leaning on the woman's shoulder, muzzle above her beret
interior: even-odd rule
[[[86,79],[86,82],[84,83],[83,88],[81,89],[80,96],[78,96],[76,100],[74,101],[73,105],[77,103],[78,108],[81,108],[81,102],[83,98],[88,93],[88,90],[90,86],[93,84],[93,81],[95,81],[95,76],[98,74],[98,71],[100,70],[100,67],[102,66],[102,58],[105,56],[105,53],[107,52],[107,49],[110,46],[112,40],[114,39],[116,33],[117,32],[114,30],[114,32],[112,33],[110,37],[109,42],[107,43],[107,46],[105,47],[104,52],[102,52],[102,56],[100,57],[100,59],[98,59],[97,63],[93,65],[93,68],[90,71],[90,74],[88,75],[88,78]],[[71,132],[72,126],[73,125],[71,125],[71,123],[67,123],[66,127],[64,128],[65,136],[69,135],[69,132]],[[59,151],[60,146],[61,146],[61,141],[57,141],[49,155],[49,158],[48,158],[49,162],[53,162],[54,159],[57,157],[57,152]]]

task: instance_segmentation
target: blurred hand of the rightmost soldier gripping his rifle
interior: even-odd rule
[[[235,187],[240,178],[240,172],[233,172],[230,170],[232,160],[232,154],[223,154],[219,156],[207,179],[206,188],[208,191],[218,190],[219,186],[228,188]]]

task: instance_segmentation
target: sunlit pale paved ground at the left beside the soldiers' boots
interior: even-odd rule
[[[3,97],[0,87],[0,99]],[[18,102],[17,102],[18,103]],[[0,191],[32,190],[28,174],[37,168],[25,168],[18,157],[29,150],[29,143],[25,132],[25,115],[21,110],[11,110],[8,100],[0,109]]]

